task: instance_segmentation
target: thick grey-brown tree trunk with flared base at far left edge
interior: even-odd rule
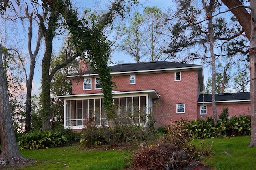
[[[1,44],[0,44],[1,46]],[[0,49],[0,136],[2,152],[0,154],[0,165],[16,164],[26,162],[18,150],[14,128],[12,124],[12,111],[7,94],[6,78],[2,61],[2,50]]]

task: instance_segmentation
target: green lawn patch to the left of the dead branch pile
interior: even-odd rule
[[[79,146],[21,150],[25,158],[36,160],[22,170],[119,170],[124,169],[124,150],[83,150]]]

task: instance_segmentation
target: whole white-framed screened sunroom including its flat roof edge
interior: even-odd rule
[[[113,92],[116,118],[132,124],[146,124],[152,113],[153,100],[160,96],[155,90]],[[64,101],[64,127],[82,129],[92,120],[96,125],[108,125],[103,106],[103,94],[57,96]]]

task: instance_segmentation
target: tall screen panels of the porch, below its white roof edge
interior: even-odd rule
[[[146,123],[148,96],[131,96],[114,98],[117,119],[126,123]],[[152,102],[151,102],[152,103]],[[149,108],[150,109],[150,108]],[[107,125],[103,109],[103,99],[65,100],[64,126],[84,126],[89,120],[96,125]]]

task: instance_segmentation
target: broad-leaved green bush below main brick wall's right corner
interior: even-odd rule
[[[212,117],[208,117],[206,120],[192,120],[189,125],[189,130],[195,139],[216,137],[218,135],[216,123],[214,123]]]

